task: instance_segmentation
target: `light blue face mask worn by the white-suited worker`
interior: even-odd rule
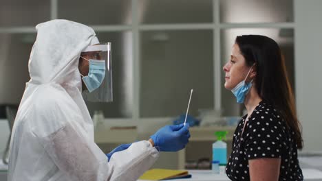
[[[86,58],[84,59],[87,60]],[[93,59],[87,61],[89,61],[89,72],[87,76],[82,75],[82,79],[89,93],[92,93],[93,90],[103,83],[105,77],[105,61]]]

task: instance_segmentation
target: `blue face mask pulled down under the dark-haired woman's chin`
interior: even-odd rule
[[[250,68],[250,70],[248,71],[245,80],[248,77],[248,74],[250,73],[250,71],[252,70],[252,68]],[[246,83],[245,80],[239,82],[239,84],[237,84],[237,86],[235,86],[231,92],[235,95],[236,99],[237,99],[237,103],[242,104],[245,101],[245,97],[247,95],[247,93],[249,92],[250,88],[252,87],[252,81],[250,81],[249,83]]]

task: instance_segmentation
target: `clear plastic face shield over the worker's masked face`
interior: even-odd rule
[[[89,61],[89,73],[83,76],[87,90],[83,98],[93,102],[113,101],[111,43],[90,45],[81,53]]]

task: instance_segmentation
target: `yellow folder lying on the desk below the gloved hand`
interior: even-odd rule
[[[171,169],[150,169],[146,171],[139,179],[140,180],[168,180],[174,178],[190,178],[186,170],[171,170]]]

